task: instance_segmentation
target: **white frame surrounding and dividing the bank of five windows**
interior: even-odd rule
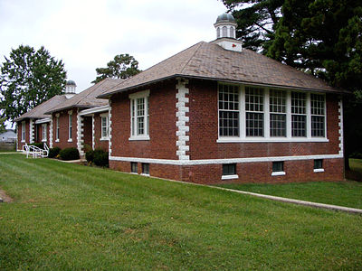
[[[219,85],[236,85],[233,83],[221,83]],[[269,88],[269,87],[261,87],[261,86],[249,86],[249,85],[238,85],[239,86],[239,136],[222,136],[220,135],[220,123],[219,123],[219,115],[218,119],[218,139],[217,143],[239,143],[239,142],[329,142],[327,135],[327,99],[325,93],[320,92],[307,92],[300,91],[295,89],[279,89],[279,88]],[[245,87],[254,87],[254,88],[262,88],[264,89],[264,98],[263,98],[263,123],[264,130],[263,136],[246,136],[246,110],[245,110]],[[219,88],[218,88],[219,89]],[[270,90],[276,89],[286,92],[286,136],[271,136],[270,131]],[[306,136],[292,136],[291,135],[291,92],[302,92],[306,93]],[[319,95],[324,95],[324,135],[325,136],[311,136],[311,109],[310,109],[310,93],[316,93]],[[219,104],[219,92],[217,92],[218,104]],[[219,105],[218,105],[219,107]]]

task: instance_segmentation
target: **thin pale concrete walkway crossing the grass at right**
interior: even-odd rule
[[[344,207],[344,206],[324,204],[324,203],[318,203],[318,202],[312,202],[312,201],[293,200],[293,199],[270,196],[270,195],[264,195],[264,194],[253,193],[253,192],[244,192],[244,191],[240,191],[240,190],[228,189],[228,188],[223,188],[223,187],[218,187],[218,186],[209,186],[209,185],[207,185],[207,186],[208,187],[213,187],[213,188],[216,188],[216,189],[220,189],[220,190],[224,190],[224,191],[237,192],[237,193],[240,193],[240,194],[251,195],[251,196],[264,198],[264,199],[268,199],[268,200],[272,200],[272,201],[281,201],[281,202],[299,204],[299,205],[310,206],[310,207],[314,207],[314,208],[327,209],[327,210],[339,210],[339,211],[357,213],[357,214],[362,215],[362,209],[349,208],[349,207]]]

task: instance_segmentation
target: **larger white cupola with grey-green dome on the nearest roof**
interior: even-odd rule
[[[243,42],[236,40],[237,23],[232,14],[221,14],[217,17],[214,28],[216,30],[216,40],[214,43],[220,45],[225,50],[242,51]]]

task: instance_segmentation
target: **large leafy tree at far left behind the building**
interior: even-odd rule
[[[9,121],[43,101],[61,94],[66,72],[42,46],[38,51],[20,45],[5,57],[0,73],[0,117]]]

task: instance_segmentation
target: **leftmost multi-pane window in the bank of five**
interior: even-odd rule
[[[239,136],[239,88],[219,85],[219,135]]]

